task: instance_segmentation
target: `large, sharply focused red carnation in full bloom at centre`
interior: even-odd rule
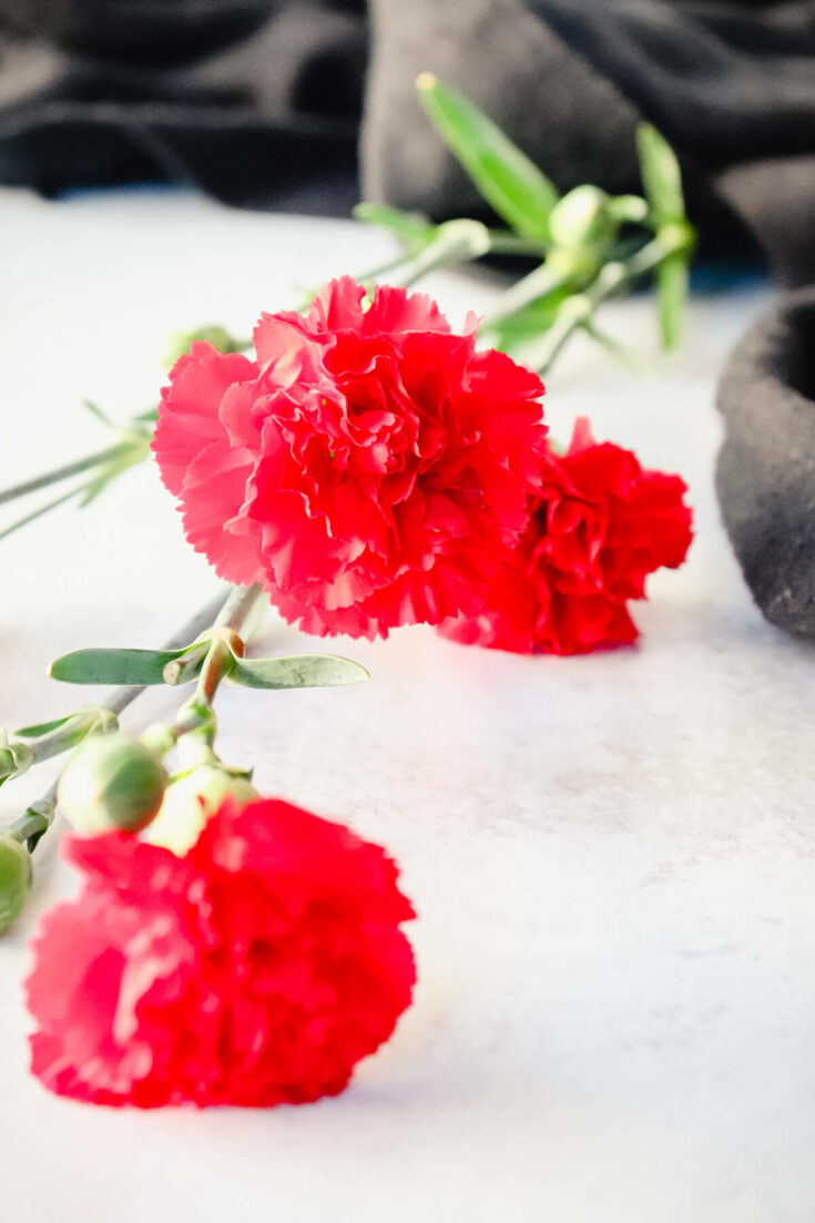
[[[153,449],[187,539],[307,632],[374,637],[483,600],[540,482],[543,385],[422,294],[332,281],[257,360],[193,344]]]

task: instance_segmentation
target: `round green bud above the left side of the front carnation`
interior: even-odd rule
[[[136,833],[162,806],[166,780],[160,759],[137,739],[121,730],[92,735],[60,777],[58,802],[81,833]]]

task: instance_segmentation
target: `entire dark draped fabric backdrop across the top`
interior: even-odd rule
[[[811,0],[0,0],[0,183],[481,215],[416,100],[427,70],[563,190],[638,190],[650,120],[702,257],[815,280]]]

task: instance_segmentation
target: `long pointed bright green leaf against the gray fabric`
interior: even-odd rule
[[[558,201],[553,183],[477,106],[430,72],[419,97],[441,137],[494,210],[524,237],[545,237]]]

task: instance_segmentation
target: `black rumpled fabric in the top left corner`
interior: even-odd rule
[[[348,213],[366,57],[316,0],[0,0],[0,182]]]

